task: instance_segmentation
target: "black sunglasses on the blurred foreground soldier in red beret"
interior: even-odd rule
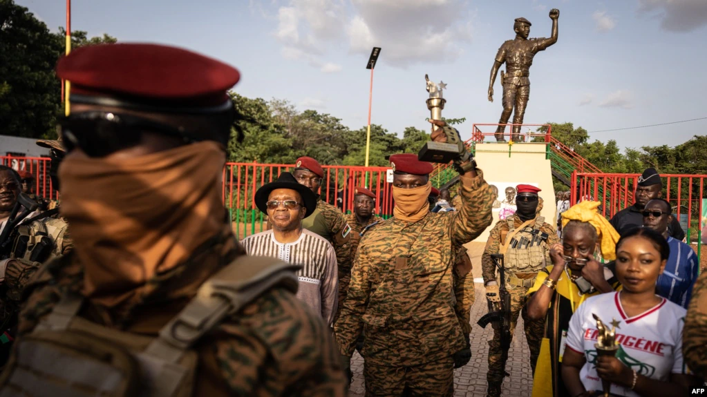
[[[81,148],[90,157],[103,157],[139,143],[142,131],[180,138],[185,144],[199,139],[184,129],[155,122],[132,114],[81,112],[59,120],[66,153]]]

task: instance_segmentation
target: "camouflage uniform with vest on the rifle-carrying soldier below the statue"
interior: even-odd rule
[[[539,198],[539,203],[537,207],[537,214],[542,210],[542,198]],[[544,218],[542,216],[536,215],[537,218],[534,220],[534,224],[527,226],[522,230],[522,232],[530,232],[532,230],[539,230],[547,234],[547,240],[540,244],[540,249],[533,251],[529,249],[511,249],[508,248],[505,256],[505,266],[506,266],[506,288],[510,292],[510,337],[513,338],[513,333],[515,331],[515,323],[518,321],[518,315],[521,314],[520,311],[525,307],[527,302],[527,290],[532,287],[534,280],[537,277],[537,272],[548,266],[551,263],[550,260],[550,249],[552,244],[559,243],[560,240],[557,237],[555,229],[552,225],[544,223]],[[514,214],[506,220],[500,220],[493,227],[491,233],[489,234],[489,240],[486,242],[486,248],[484,249],[484,254],[481,256],[481,268],[482,275],[484,277],[484,285],[491,280],[496,280],[496,264],[491,259],[491,254],[498,254],[501,249],[501,245],[506,240],[506,236],[509,230],[515,230],[523,224],[523,221],[518,218],[517,214]],[[515,235],[519,237],[520,232]],[[537,247],[535,247],[537,248]],[[525,251],[525,253],[524,253]],[[543,253],[544,251],[544,253]],[[515,259],[513,259],[515,256]],[[520,266],[518,263],[522,262]],[[511,281],[510,277],[513,277]],[[518,283],[524,283],[524,285],[518,285]],[[530,348],[530,365],[532,371],[535,371],[535,363],[537,362],[537,357],[540,353],[540,342],[544,333],[545,319],[539,319],[532,321],[527,318],[525,309],[522,310],[523,328],[525,329],[525,337],[527,338],[528,348]],[[503,382],[503,361],[501,357],[503,355],[503,350],[501,350],[501,334],[499,333],[496,324],[493,326],[493,339],[489,340],[489,372],[486,374],[486,381],[489,384],[489,395],[493,395],[491,392],[492,387],[498,387],[500,390],[500,385]]]

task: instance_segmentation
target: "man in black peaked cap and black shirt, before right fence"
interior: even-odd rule
[[[638,186],[636,186],[636,191],[633,192],[633,199],[636,202],[633,203],[633,206],[617,212],[609,222],[619,232],[619,235],[623,235],[627,230],[633,229],[633,227],[643,226],[643,208],[645,208],[645,204],[648,201],[655,198],[662,198],[662,181],[660,180],[660,174],[655,168],[647,168],[638,177]],[[667,225],[667,232],[670,237],[679,241],[685,238],[685,232],[675,217]]]

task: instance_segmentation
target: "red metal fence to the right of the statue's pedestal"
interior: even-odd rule
[[[592,199],[602,203],[601,211],[607,218],[633,205],[633,192],[640,174],[604,174],[574,172],[571,203]],[[702,199],[707,175],[662,174],[662,198],[674,208],[673,216],[681,221],[689,237],[697,241],[703,213]],[[685,227],[686,226],[686,227]]]

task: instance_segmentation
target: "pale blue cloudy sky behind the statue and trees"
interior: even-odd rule
[[[52,31],[65,3],[16,0]],[[707,117],[706,0],[73,0],[71,28],[122,42],[159,42],[233,64],[235,89],[286,99],[352,129],[366,125],[370,49],[382,47],[373,83],[372,122],[401,133],[428,128],[424,75],[448,83],[445,117],[496,123],[501,86],[486,100],[498,47],[513,20],[559,41],[531,69],[525,123],[573,122],[588,131]],[[672,126],[597,132],[619,146],[670,146],[703,135],[707,119]]]

